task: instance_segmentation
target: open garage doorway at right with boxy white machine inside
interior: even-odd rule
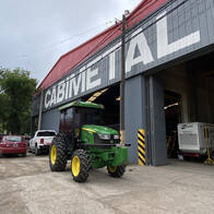
[[[168,158],[214,159],[214,52],[158,74],[164,92]],[[162,124],[158,124],[162,126]]]

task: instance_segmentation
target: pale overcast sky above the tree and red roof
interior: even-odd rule
[[[40,83],[63,54],[142,0],[1,0],[0,67],[27,69]]]

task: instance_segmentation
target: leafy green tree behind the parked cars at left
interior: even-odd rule
[[[29,71],[0,69],[0,129],[15,134],[29,133],[35,88],[36,80],[29,78]]]

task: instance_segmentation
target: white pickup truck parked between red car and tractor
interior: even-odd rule
[[[56,136],[55,130],[38,130],[34,138],[29,140],[29,151],[39,155],[41,152],[48,152],[52,139]]]

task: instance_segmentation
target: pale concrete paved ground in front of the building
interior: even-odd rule
[[[94,170],[86,183],[69,169],[50,173],[48,157],[0,157],[0,214],[214,213],[214,167],[174,160],[129,166],[121,179]]]

